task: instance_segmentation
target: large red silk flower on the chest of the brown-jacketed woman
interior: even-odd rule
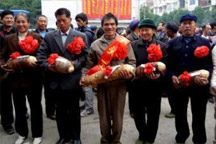
[[[24,40],[19,41],[19,46],[27,54],[33,54],[38,46],[38,40],[33,39],[33,36],[27,36]]]

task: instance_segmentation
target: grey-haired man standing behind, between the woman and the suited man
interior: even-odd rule
[[[36,20],[37,29],[34,31],[36,33],[39,33],[42,38],[46,36],[46,34],[49,32],[47,29],[48,19],[45,15],[39,15]],[[45,73],[46,75],[46,73]],[[45,103],[46,103],[46,115],[47,118],[51,120],[55,120],[55,97],[53,95],[50,95],[50,89],[47,85],[46,79],[44,84],[44,96],[45,96]]]

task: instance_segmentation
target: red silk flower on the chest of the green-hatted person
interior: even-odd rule
[[[160,45],[151,44],[147,48],[147,52],[148,52],[148,60],[152,62],[159,61],[163,57]]]

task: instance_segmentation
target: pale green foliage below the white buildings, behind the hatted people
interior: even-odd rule
[[[157,14],[154,14],[149,7],[145,6],[141,7],[140,9],[140,19],[142,20],[148,17],[153,19],[157,24],[160,21],[164,21],[165,23],[173,21],[178,24],[180,17],[186,13],[193,13],[198,17],[198,26],[202,26],[203,24],[211,23],[216,20],[216,8],[213,8],[212,10],[204,10],[201,7],[196,7],[191,12],[185,9],[178,9],[170,13],[165,12],[162,16],[159,16]]]

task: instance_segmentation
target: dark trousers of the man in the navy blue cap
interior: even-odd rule
[[[209,96],[209,87],[192,86],[190,88],[176,89],[176,141],[184,143],[189,137],[189,126],[187,122],[187,106],[190,99],[192,111],[193,142],[206,143],[205,116],[206,105]]]

